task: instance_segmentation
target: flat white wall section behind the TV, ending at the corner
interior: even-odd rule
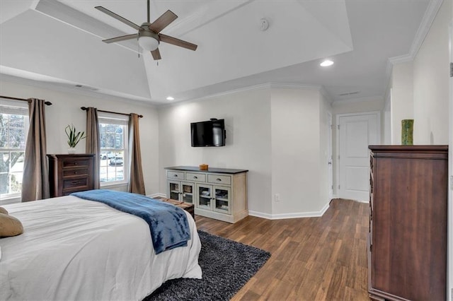
[[[225,119],[226,146],[190,146],[190,122]],[[248,90],[206,100],[159,107],[160,191],[166,193],[164,167],[176,165],[239,168],[248,172],[248,209],[272,212],[270,91]]]

